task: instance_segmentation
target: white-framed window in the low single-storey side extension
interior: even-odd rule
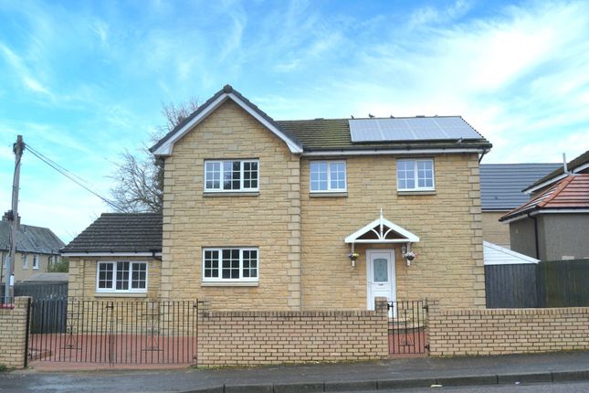
[[[99,262],[96,292],[147,292],[147,263]]]

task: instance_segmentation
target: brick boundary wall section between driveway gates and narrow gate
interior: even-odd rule
[[[207,312],[198,366],[373,360],[388,357],[386,299],[375,311]]]

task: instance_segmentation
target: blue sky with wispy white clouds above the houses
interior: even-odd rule
[[[0,0],[0,202],[12,144],[109,197],[163,104],[226,83],[276,120],[462,115],[487,163],[589,149],[589,2]],[[110,211],[30,152],[22,222],[68,242]]]

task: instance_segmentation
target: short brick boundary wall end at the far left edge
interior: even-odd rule
[[[0,364],[25,367],[27,296],[17,297],[14,308],[0,308]]]

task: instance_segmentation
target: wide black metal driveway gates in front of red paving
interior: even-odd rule
[[[62,299],[30,307],[30,360],[195,364],[198,302]]]

